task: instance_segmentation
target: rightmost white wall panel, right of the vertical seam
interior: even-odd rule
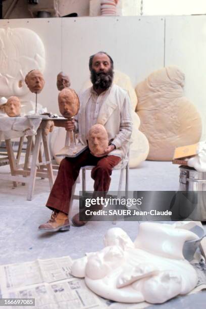
[[[165,65],[185,73],[185,96],[202,116],[206,138],[206,16],[166,17]]]

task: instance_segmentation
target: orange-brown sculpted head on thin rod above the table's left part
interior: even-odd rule
[[[39,70],[31,70],[25,77],[25,83],[31,92],[40,93],[45,84],[45,80]]]

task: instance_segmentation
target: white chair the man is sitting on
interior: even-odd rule
[[[113,170],[120,170],[120,178],[119,178],[119,185],[118,185],[118,193],[117,193],[117,198],[121,198],[121,188],[122,188],[122,180],[123,180],[123,175],[125,172],[125,198],[127,199],[128,196],[128,187],[129,187],[129,153],[128,153],[128,160],[123,160],[121,161],[121,166],[119,164],[117,167],[114,167]],[[94,165],[87,165],[84,166],[80,169],[82,171],[82,192],[86,191],[86,170],[92,170]],[[75,189],[76,189],[76,183],[72,187],[72,195],[70,199],[70,207],[69,207],[69,215],[68,217],[70,218],[70,214],[72,211],[72,204],[74,199],[79,199],[79,195],[75,195]],[[115,221],[116,222],[116,221]],[[115,222],[113,222],[115,224]]]

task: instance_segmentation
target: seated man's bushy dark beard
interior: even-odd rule
[[[112,69],[110,69],[107,73],[96,73],[94,70],[91,70],[90,78],[94,89],[108,89],[112,85],[113,75],[114,72]]]

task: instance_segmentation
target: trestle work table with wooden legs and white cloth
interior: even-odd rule
[[[2,118],[0,119],[1,123],[0,129],[4,129],[4,131],[2,132],[5,135],[4,137],[11,169],[10,175],[0,173],[0,179],[11,180],[13,182],[21,182],[22,184],[28,183],[27,200],[31,200],[34,191],[36,177],[48,178],[50,188],[52,188],[53,186],[54,183],[53,166],[49,152],[48,136],[45,133],[44,127],[47,121],[58,120],[58,119],[61,120],[61,118],[54,119],[46,117],[42,119],[39,117],[38,118],[29,117],[29,119],[27,119],[28,122],[25,121],[25,117],[15,117],[15,118],[16,119],[13,119],[14,123],[12,125],[11,125],[12,119],[7,118],[8,123],[11,127],[10,133],[9,130],[5,130],[5,128],[7,127],[6,117],[4,117],[4,119]],[[24,127],[22,127],[23,123],[24,124],[26,123]],[[29,126],[25,128],[28,125],[28,123]],[[15,131],[14,128],[15,130],[19,128],[19,130],[21,131]],[[19,159],[22,151],[24,136],[26,132],[27,133],[29,132],[28,129],[30,130],[30,135],[27,136],[26,155],[24,164],[22,166],[19,164]],[[34,135],[35,132],[36,135]],[[12,147],[11,139],[17,136],[21,137],[20,137],[18,155],[16,159],[14,156],[14,150]],[[41,142],[43,144],[45,162],[42,162]],[[29,166],[30,157],[31,157],[31,165]]]

